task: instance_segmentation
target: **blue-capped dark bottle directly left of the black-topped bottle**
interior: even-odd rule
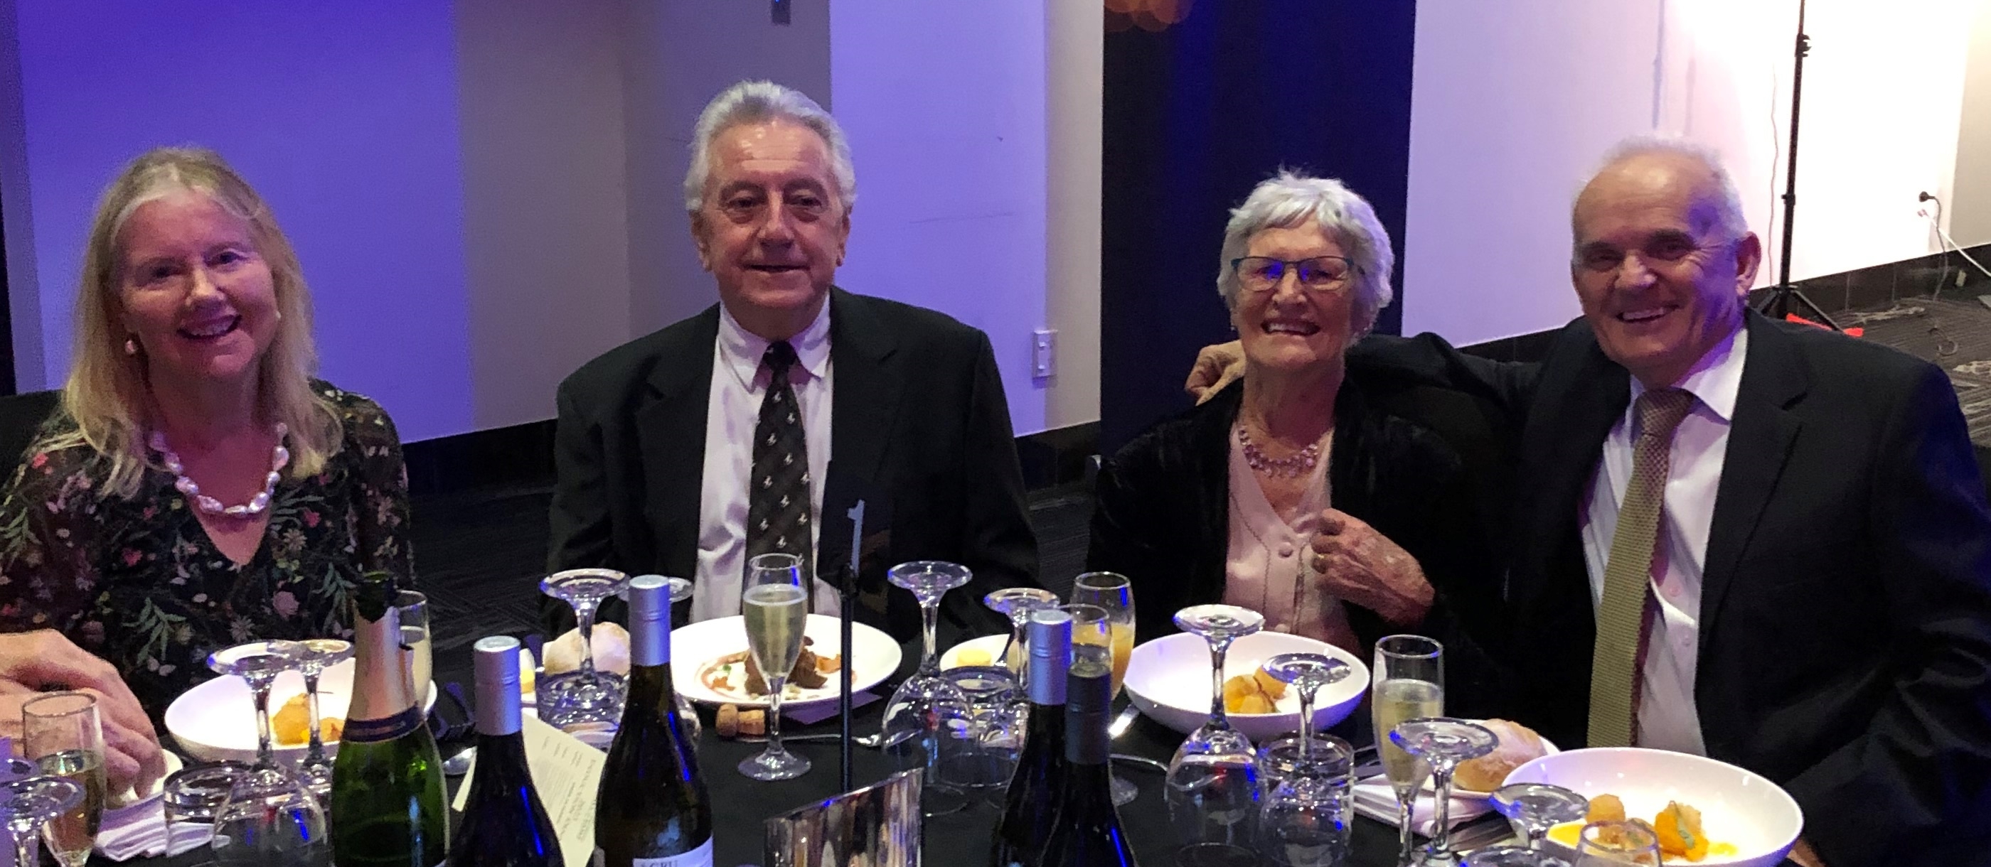
[[[1045,837],[1057,817],[1057,799],[1065,787],[1065,676],[1071,668],[1071,612],[1035,610],[1029,614],[1029,722],[1023,728],[1023,754],[1003,797],[1001,819],[996,821],[992,867],[1037,867]]]

